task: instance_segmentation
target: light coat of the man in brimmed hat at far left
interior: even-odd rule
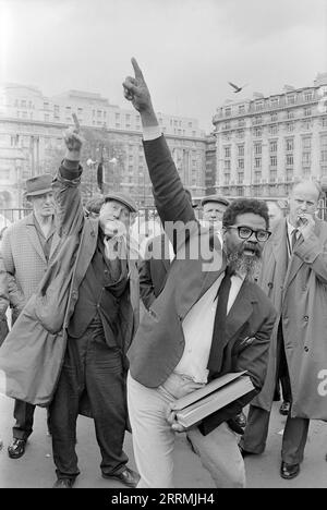
[[[55,259],[60,244],[53,233],[49,260],[46,259],[34,223],[33,214],[13,223],[3,235],[1,257],[8,274],[9,300],[14,317],[37,290],[48,266]]]

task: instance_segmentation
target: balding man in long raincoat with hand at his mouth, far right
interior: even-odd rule
[[[241,448],[243,456],[264,451],[276,376],[282,372],[292,393],[281,450],[286,479],[300,472],[310,420],[327,420],[327,223],[315,215],[319,197],[314,181],[294,185],[289,216],[265,246],[258,281],[279,315],[266,382],[251,403]]]

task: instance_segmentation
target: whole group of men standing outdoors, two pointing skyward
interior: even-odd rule
[[[173,487],[175,434],[185,433],[217,487],[242,488],[243,458],[264,451],[281,386],[280,475],[291,479],[310,420],[327,420],[320,187],[299,182],[288,204],[206,196],[198,220],[143,73],[135,59],[132,64],[123,90],[141,116],[162,233],[141,257],[131,235],[137,216],[131,197],[109,193],[83,207],[78,125],[65,133],[56,178],[27,180],[32,212],[1,241],[0,313],[5,320],[10,306],[13,318],[0,349],[5,392],[14,399],[8,454],[25,453],[40,405],[48,413],[56,488],[73,487],[80,474],[78,414],[94,420],[105,478]],[[174,401],[235,372],[246,372],[253,389],[182,426]],[[125,430],[137,473],[123,451]]]

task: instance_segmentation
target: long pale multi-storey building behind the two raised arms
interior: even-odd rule
[[[7,84],[0,88],[0,208],[22,207],[24,181],[55,172],[62,157],[62,131],[75,112],[86,134],[89,194],[97,191],[96,169],[104,162],[107,186],[152,204],[140,114],[111,105],[99,94],[70,90],[48,98],[38,88]],[[158,120],[181,179],[193,196],[205,194],[206,138],[196,119],[167,116]],[[88,153],[87,153],[88,151]]]

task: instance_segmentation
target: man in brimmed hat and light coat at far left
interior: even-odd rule
[[[56,233],[50,173],[27,179],[25,197],[31,202],[33,212],[12,224],[3,236],[1,256],[7,270],[13,321],[36,291],[58,252],[60,240]],[[25,452],[33,430],[34,410],[35,405],[15,399],[13,442],[8,448],[11,459],[19,459]]]

